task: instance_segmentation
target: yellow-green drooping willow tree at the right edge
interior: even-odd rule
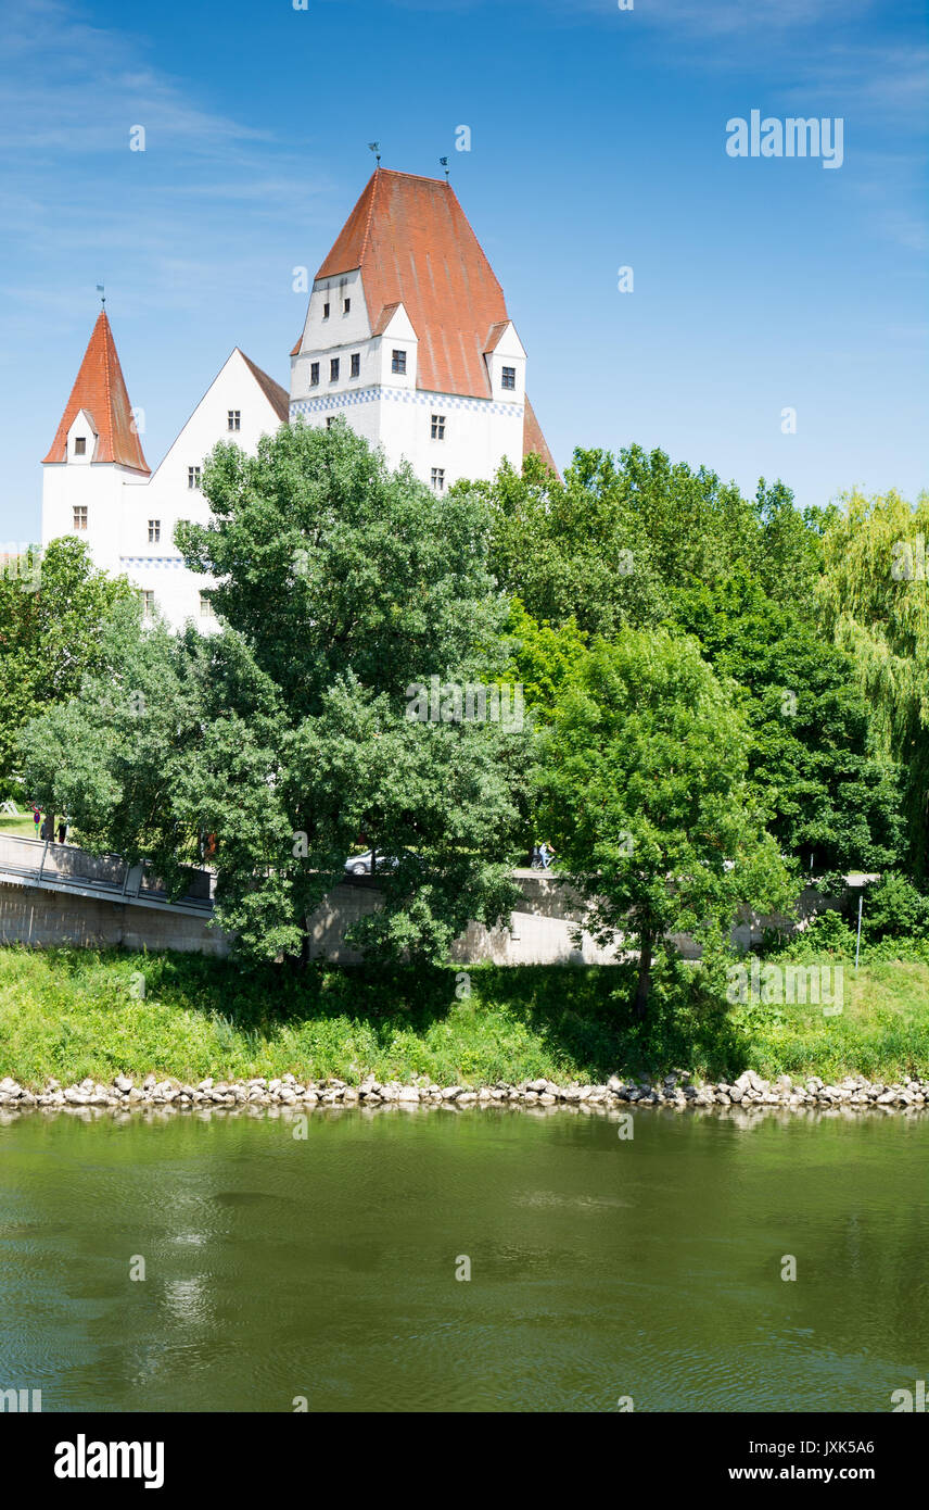
[[[851,492],[823,539],[826,631],[854,657],[876,731],[900,764],[911,865],[929,861],[929,494]]]

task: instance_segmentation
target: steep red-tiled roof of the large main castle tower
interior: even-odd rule
[[[371,329],[403,304],[419,341],[416,387],[489,399],[484,352],[505,323],[504,290],[454,189],[377,168],[317,278],[360,269]]]

